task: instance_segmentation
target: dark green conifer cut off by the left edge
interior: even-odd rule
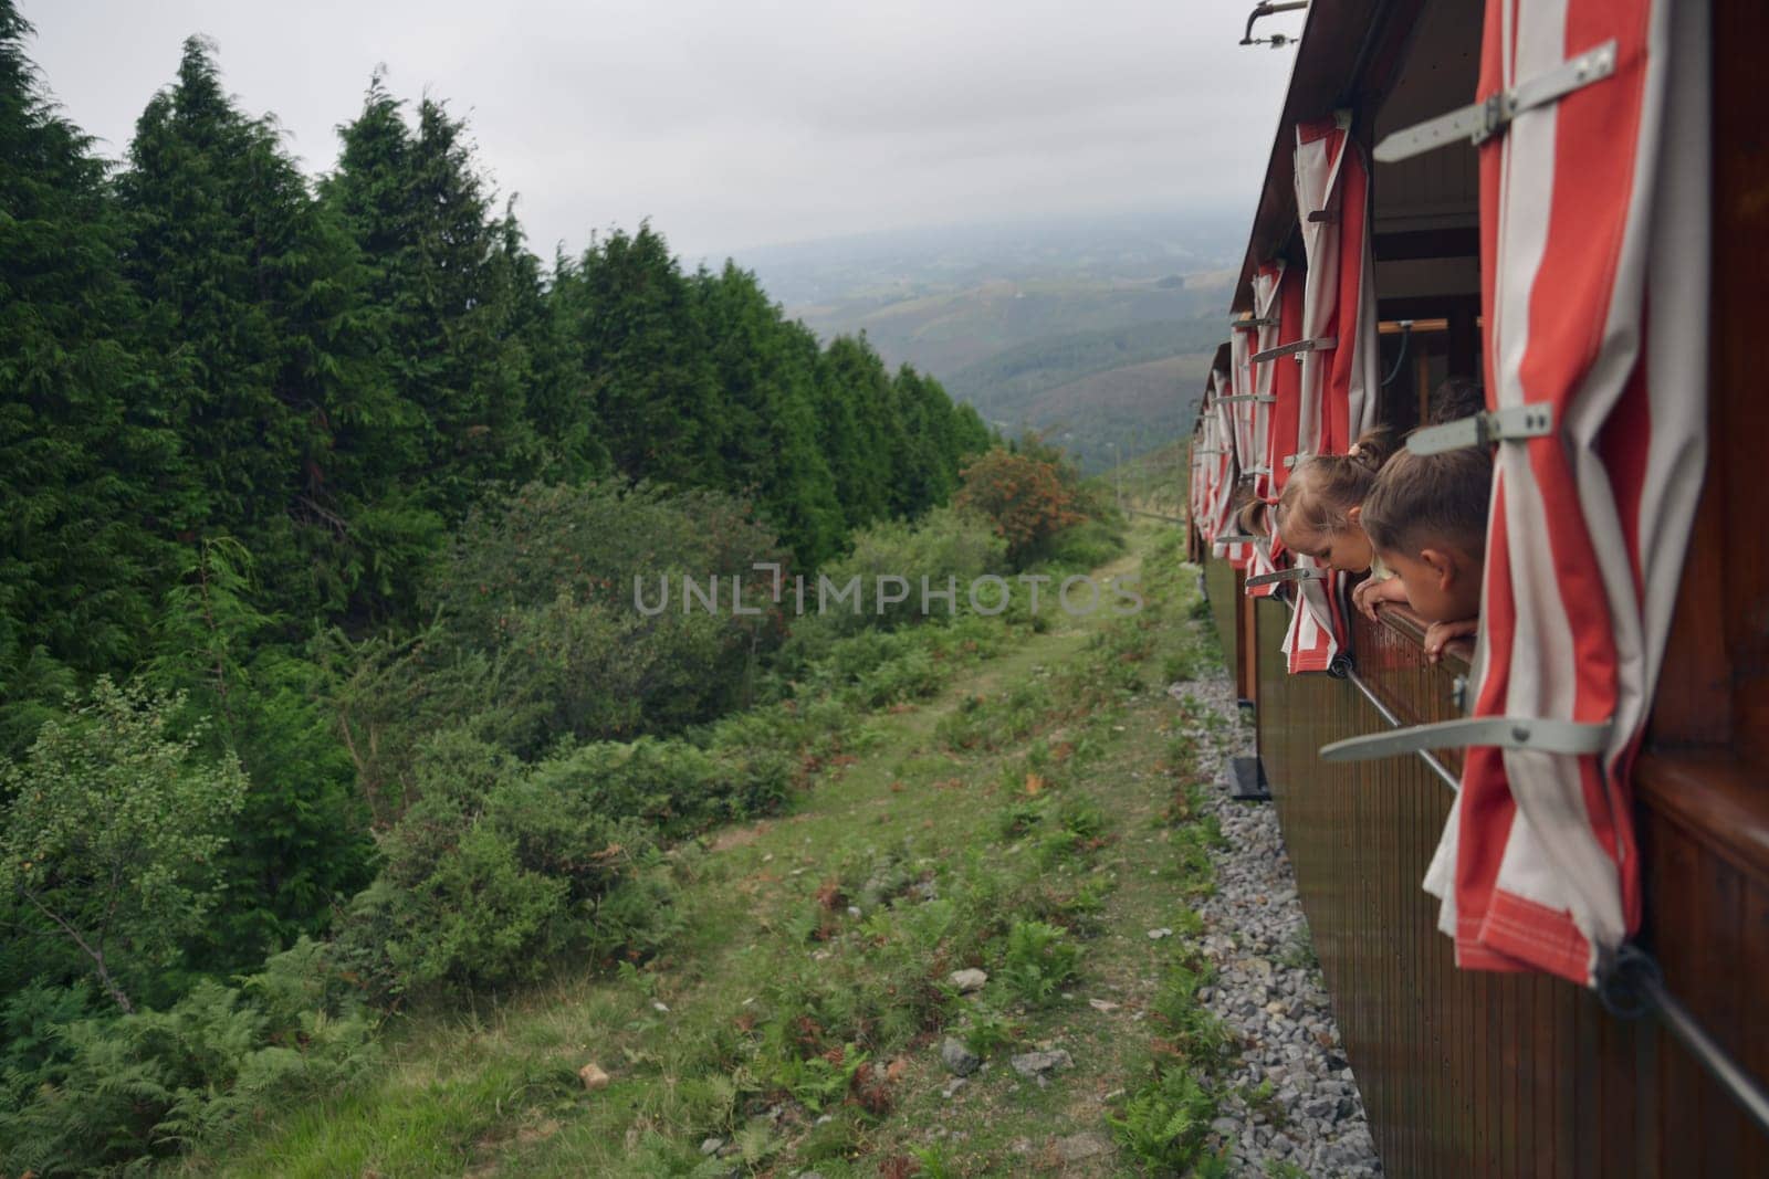
[[[143,654],[173,555],[156,484],[177,438],[136,354],[142,308],[104,164],[55,115],[0,0],[0,749],[42,702]]]

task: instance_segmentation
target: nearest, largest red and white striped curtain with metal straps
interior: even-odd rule
[[[1488,403],[1555,430],[1498,444],[1474,714],[1601,749],[1468,749],[1428,879],[1465,967],[1592,985],[1640,923],[1629,771],[1705,465],[1705,9],[1488,2],[1477,97],[1608,41],[1615,71],[1481,148]]]

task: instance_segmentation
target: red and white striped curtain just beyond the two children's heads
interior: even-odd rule
[[[1380,345],[1375,260],[1369,246],[1369,164],[1352,138],[1350,115],[1297,126],[1297,214],[1307,253],[1302,323],[1288,341],[1298,354],[1295,454],[1344,454],[1376,424]],[[1288,359],[1277,361],[1290,362]],[[1314,559],[1295,555],[1314,569]],[[1298,582],[1284,635],[1290,672],[1325,672],[1350,643],[1343,576]]]

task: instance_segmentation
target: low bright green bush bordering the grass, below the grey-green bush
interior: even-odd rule
[[[423,746],[416,778],[341,937],[380,995],[531,979],[570,951],[655,953],[678,926],[658,834],[777,808],[791,760],[647,737],[522,765],[453,730]]]

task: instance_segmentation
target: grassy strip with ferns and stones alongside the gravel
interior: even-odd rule
[[[1106,573],[1146,608],[1042,633],[863,719],[796,808],[672,854],[683,933],[616,974],[400,1016],[361,1087],[186,1167],[228,1175],[1217,1170],[1189,900],[1224,721],[1173,530]],[[1139,569],[1137,569],[1139,567]],[[1109,601],[1109,599],[1107,599]],[[1150,930],[1171,935],[1150,937]],[[959,995],[948,976],[982,969]],[[987,1064],[959,1087],[952,1038]],[[1044,1084],[1017,1053],[1061,1050]],[[589,1089],[580,1069],[607,1073]]]

